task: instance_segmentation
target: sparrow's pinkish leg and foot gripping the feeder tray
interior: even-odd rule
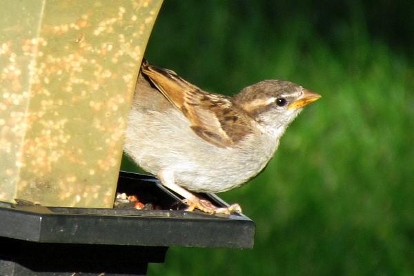
[[[184,197],[183,202],[189,206],[186,209],[188,211],[193,211],[195,208],[197,208],[211,214],[223,213],[230,215],[230,213],[242,213],[242,208],[239,206],[239,204],[232,204],[228,207],[218,208],[210,201],[201,197],[197,197],[197,195],[194,195],[181,186],[178,186],[175,184],[174,172],[171,170],[159,170],[157,177],[161,181],[161,184],[170,190],[173,190],[175,193],[181,195],[181,197]]]

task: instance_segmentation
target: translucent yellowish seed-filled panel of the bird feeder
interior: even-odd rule
[[[112,206],[161,2],[0,3],[0,201]]]

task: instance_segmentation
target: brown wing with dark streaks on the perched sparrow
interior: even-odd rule
[[[230,97],[201,90],[175,72],[151,66],[147,61],[142,63],[141,70],[208,143],[231,148],[252,132],[253,119],[237,108]]]

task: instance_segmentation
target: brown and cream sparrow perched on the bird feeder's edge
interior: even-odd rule
[[[224,192],[255,177],[302,107],[320,97],[280,80],[260,81],[227,97],[201,90],[144,60],[124,150],[184,197],[188,210],[239,213],[238,204],[217,208],[190,191]]]

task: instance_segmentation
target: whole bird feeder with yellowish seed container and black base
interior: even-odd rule
[[[161,2],[0,1],[0,275],[145,275],[169,246],[253,247],[244,215],[174,208],[157,179],[119,173]],[[113,208],[128,191],[161,210]]]

